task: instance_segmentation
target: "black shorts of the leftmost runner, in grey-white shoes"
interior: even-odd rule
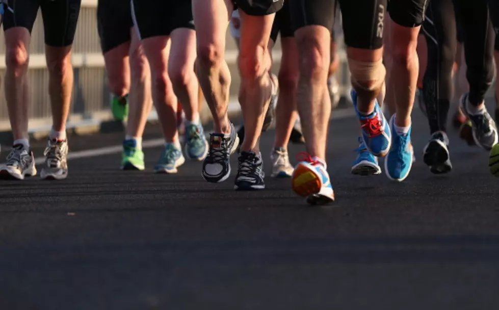
[[[42,12],[45,44],[69,46],[73,43],[82,0],[4,0],[4,31],[22,27],[31,31],[38,9]],[[4,4],[5,6],[5,4]]]

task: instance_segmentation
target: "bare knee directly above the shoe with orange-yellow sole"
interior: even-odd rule
[[[299,49],[300,75],[305,79],[326,81],[329,70],[329,44],[321,44],[316,38],[300,38],[297,40]]]

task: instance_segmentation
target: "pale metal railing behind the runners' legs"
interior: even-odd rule
[[[126,1],[126,0],[124,0]],[[110,93],[104,69],[104,60],[100,50],[97,33],[97,0],[83,0],[78,18],[73,43],[72,63],[74,67],[74,88],[69,122],[85,120],[110,119]],[[4,33],[0,32],[0,76],[5,75],[5,43]],[[35,21],[30,44],[29,85],[30,85],[30,131],[46,127],[51,123],[50,103],[48,96],[48,71],[44,55],[44,34],[41,14]],[[280,45],[274,48],[276,69],[280,60]],[[237,48],[227,32],[226,60],[233,72],[231,93],[237,94],[239,72],[235,66]],[[345,72],[345,70],[342,70]],[[348,72],[348,70],[346,70]],[[343,75],[343,76],[342,76]],[[340,75],[340,82],[348,79],[348,75]],[[343,83],[340,83],[343,84]],[[10,130],[4,86],[0,88],[0,130]]]

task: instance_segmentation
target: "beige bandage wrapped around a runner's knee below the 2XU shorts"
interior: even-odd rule
[[[349,58],[348,66],[352,75],[352,86],[357,93],[369,96],[370,100],[376,98],[385,81],[386,69],[383,60],[362,62]]]

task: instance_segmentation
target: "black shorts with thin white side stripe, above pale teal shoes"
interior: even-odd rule
[[[178,28],[194,30],[190,0],[132,0],[132,18],[141,40],[169,36]]]

